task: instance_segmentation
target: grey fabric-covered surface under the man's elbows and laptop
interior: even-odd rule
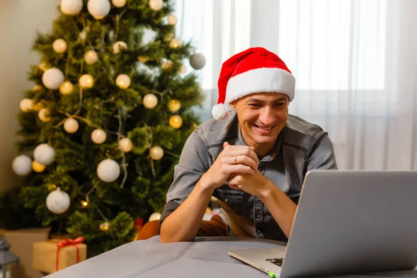
[[[60,270],[47,278],[95,277],[251,277],[268,278],[227,254],[228,250],[271,248],[285,245],[274,240],[254,238],[196,238],[194,242],[159,243],[159,236],[127,243],[114,250]],[[415,270],[344,278],[413,277]]]

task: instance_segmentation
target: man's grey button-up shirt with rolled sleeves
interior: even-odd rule
[[[197,127],[186,141],[179,164],[175,166],[174,181],[167,192],[160,227],[213,165],[223,150],[224,141],[230,145],[246,145],[234,111],[222,122],[208,120]],[[306,172],[313,169],[336,170],[337,165],[327,133],[316,124],[288,115],[275,147],[259,161],[258,168],[297,204]],[[220,217],[226,222],[230,236],[288,240],[258,197],[232,189],[227,183],[215,189],[213,196],[219,199],[222,208]]]

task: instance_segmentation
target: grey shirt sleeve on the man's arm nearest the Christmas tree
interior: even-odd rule
[[[211,161],[211,154],[200,138],[199,131],[193,131],[186,140],[179,163],[174,167],[174,181],[168,189],[166,204],[159,220],[160,231],[163,220],[190,195],[199,179],[211,167]]]

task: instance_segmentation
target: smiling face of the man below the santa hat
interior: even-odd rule
[[[259,92],[241,97],[230,106],[238,113],[247,145],[272,148],[288,119],[288,104],[284,94]]]

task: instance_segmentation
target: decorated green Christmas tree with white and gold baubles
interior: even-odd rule
[[[128,243],[162,210],[181,149],[198,124],[204,66],[175,37],[167,0],[61,0],[38,34],[36,85],[20,103],[13,170],[42,225],[83,236],[88,256]],[[156,217],[157,218],[157,217]]]

